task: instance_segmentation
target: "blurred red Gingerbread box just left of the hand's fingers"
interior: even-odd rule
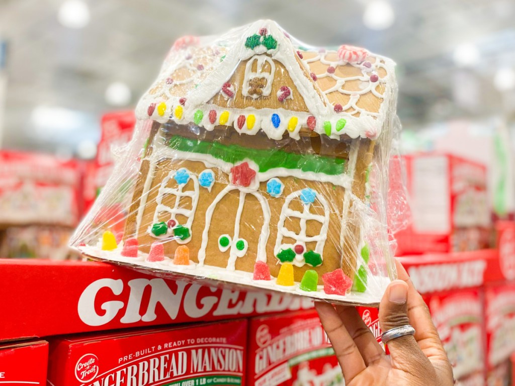
[[[316,311],[250,320],[247,385],[343,385]]]

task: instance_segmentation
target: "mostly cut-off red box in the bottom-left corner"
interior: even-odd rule
[[[48,342],[20,342],[0,345],[0,384],[46,383]]]

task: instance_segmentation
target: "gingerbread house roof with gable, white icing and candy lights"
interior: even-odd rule
[[[298,139],[376,138],[396,93],[394,63],[363,48],[309,47],[273,21],[174,43],[136,108],[140,119]]]

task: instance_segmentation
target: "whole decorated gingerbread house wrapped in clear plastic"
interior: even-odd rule
[[[307,46],[272,21],[183,37],[72,245],[159,275],[377,304],[396,277],[396,100],[390,59]]]

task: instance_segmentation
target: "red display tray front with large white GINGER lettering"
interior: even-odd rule
[[[0,340],[312,308],[300,296],[165,280],[89,261],[0,259]]]

